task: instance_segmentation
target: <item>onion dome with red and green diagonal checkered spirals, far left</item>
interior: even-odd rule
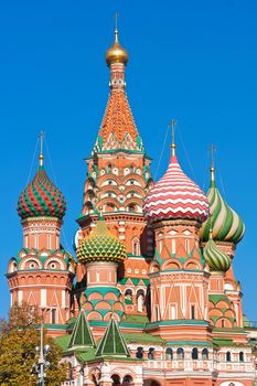
[[[63,193],[49,179],[44,167],[40,165],[34,179],[21,193],[18,213],[22,219],[28,217],[63,218],[66,201]]]

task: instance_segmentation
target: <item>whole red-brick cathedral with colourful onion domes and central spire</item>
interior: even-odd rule
[[[74,256],[60,240],[66,201],[47,176],[42,139],[18,202],[23,247],[8,265],[11,304],[43,310],[68,363],[63,386],[254,385],[233,272],[244,223],[218,190],[214,162],[206,195],[181,169],[174,136],[153,181],[117,28],[106,62],[110,93],[86,159]]]

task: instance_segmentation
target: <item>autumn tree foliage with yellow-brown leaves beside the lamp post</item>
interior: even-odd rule
[[[40,324],[39,309],[26,303],[14,304],[9,321],[0,320],[0,385],[36,385],[36,375],[31,374],[31,369],[38,362],[35,346],[40,345]],[[44,344],[51,346],[47,354],[51,365],[46,371],[45,385],[60,386],[66,376],[65,365],[60,364],[62,351],[45,334]]]

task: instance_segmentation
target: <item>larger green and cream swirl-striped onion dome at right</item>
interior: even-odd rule
[[[238,214],[227,205],[216,187],[214,170],[212,170],[211,185],[207,192],[210,212],[212,214],[213,239],[237,244],[244,236],[245,225]],[[203,223],[200,230],[202,242],[208,240],[211,218]]]

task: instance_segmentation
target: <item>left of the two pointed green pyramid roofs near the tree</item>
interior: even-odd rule
[[[89,324],[84,311],[81,311],[75,322],[68,350],[79,350],[88,346],[95,346]]]

